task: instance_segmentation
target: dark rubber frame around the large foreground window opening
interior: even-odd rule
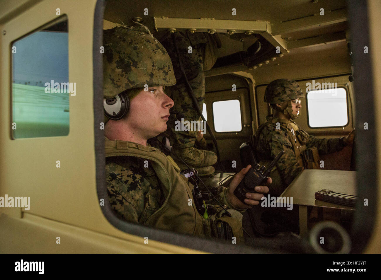
[[[102,58],[99,56],[99,44],[102,44],[102,20],[104,15],[104,0],[98,0],[96,4],[95,9],[95,15],[94,15],[94,32],[93,32],[93,107],[94,107],[94,149],[95,149],[95,157],[96,157],[96,185],[97,185],[97,191],[98,191],[98,197],[102,198],[102,195],[104,195],[104,192],[106,191],[106,179],[105,179],[105,171],[104,171],[104,165],[105,165],[105,152],[104,152],[104,135],[99,131],[99,122],[102,122],[103,120],[103,106],[102,106],[102,100],[103,100],[103,90],[102,90],[102,80],[103,80],[103,73],[102,73]],[[356,4],[353,0],[350,0],[349,5],[349,14],[348,18],[351,19],[350,25],[351,25],[351,31],[353,32],[353,41],[356,43],[356,45],[364,46],[369,45],[369,36],[368,36],[368,17],[366,13],[367,3],[357,3],[357,5],[351,5]],[[367,32],[363,32],[363,31]],[[355,50],[354,53],[361,54],[360,51]],[[374,100],[374,94],[371,88],[372,83],[372,75],[369,73],[373,73],[370,63],[370,56],[365,56],[365,62],[364,58],[360,56],[354,56],[354,69],[358,70],[359,77],[357,79],[359,80],[358,83],[355,83],[355,90],[360,93],[364,93],[364,96],[369,97],[370,101]],[[345,74],[345,73],[344,73]],[[341,76],[340,75],[334,75],[334,76],[326,76],[326,77],[335,77],[335,76]],[[99,80],[97,80],[97,78]],[[324,78],[324,77],[320,77]],[[309,79],[304,79],[309,80]],[[298,80],[297,82],[300,82],[303,80]],[[268,85],[268,84],[264,84]],[[258,85],[260,86],[260,85]],[[257,86],[256,86],[257,87]],[[255,87],[255,88],[256,88]],[[367,89],[367,90],[365,90]],[[363,97],[362,97],[363,98]],[[256,105],[258,108],[258,99],[256,98]],[[354,99],[354,106],[356,106],[359,103],[359,98]],[[241,110],[242,112],[242,110]],[[356,120],[357,123],[360,121],[359,115],[364,114],[365,117],[369,118],[369,121],[372,121],[374,123],[375,119],[375,111],[374,107],[371,106],[370,108],[367,108],[366,110],[359,106],[357,108],[357,114],[356,114]],[[259,115],[258,115],[259,116]],[[242,119],[242,116],[241,116]],[[259,118],[258,118],[259,119]],[[98,123],[97,123],[98,122]],[[359,128],[359,125],[357,126]],[[216,132],[218,133],[218,132]],[[376,137],[372,133],[365,133],[362,135],[363,140],[366,141],[368,145],[375,145]],[[364,146],[364,145],[363,145]],[[376,154],[373,151],[366,150],[365,153],[368,158],[363,159],[359,158],[359,176],[357,176],[357,186],[356,189],[358,191],[358,195],[362,197],[375,197],[376,191],[378,189],[377,184],[375,183],[377,180],[376,172],[374,170],[371,170],[369,168],[366,168],[366,166],[376,166]],[[357,152],[357,155],[359,155],[359,152]],[[375,179],[376,178],[376,179]],[[370,186],[375,186],[374,188],[371,188]],[[107,195],[107,192],[106,192]],[[370,203],[369,206],[366,208],[360,208],[361,201],[359,200],[356,209],[359,209],[360,211],[357,211],[355,214],[356,223],[352,224],[351,230],[355,231],[351,234],[352,237],[352,253],[361,253],[365,250],[366,246],[370,244],[370,237],[371,237],[371,231],[374,229],[375,226],[375,211],[378,209],[378,205],[375,205],[374,203]],[[108,201],[105,201],[105,206],[101,207],[102,213],[104,217],[107,219],[107,222],[109,222],[112,226],[116,227],[117,229],[123,231],[126,234],[132,234],[136,235],[138,237],[143,236],[150,236],[152,240],[157,240],[159,242],[166,242],[172,245],[177,245],[180,247],[185,248],[191,248],[195,250],[200,251],[207,251],[207,252],[214,252],[214,253],[274,253],[274,250],[276,251],[273,246],[269,247],[255,247],[255,244],[247,243],[245,245],[247,246],[240,246],[240,245],[229,245],[223,242],[218,242],[213,239],[205,239],[205,238],[199,238],[184,234],[178,234],[175,232],[168,232],[160,229],[156,229],[154,227],[146,227],[143,225],[138,224],[132,224],[125,222],[121,219],[118,219],[115,214],[112,214],[110,205]],[[361,217],[360,217],[361,215]],[[367,224],[367,227],[364,229],[363,224]],[[148,235],[149,234],[149,235]],[[267,240],[266,240],[267,241]],[[269,240],[269,243],[273,240]],[[302,245],[301,243],[299,243]],[[309,249],[309,248],[308,248]],[[307,249],[307,250],[308,250]],[[279,249],[282,250],[282,249]],[[285,249],[283,249],[285,250]],[[304,252],[303,249],[300,249],[301,253]],[[294,251],[295,253],[295,251]]]

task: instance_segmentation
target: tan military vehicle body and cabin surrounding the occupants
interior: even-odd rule
[[[41,248],[46,238],[56,238],[59,231],[61,238],[71,241],[59,249],[66,253],[80,250],[90,253],[379,253],[378,170],[381,165],[377,160],[380,131],[376,130],[376,112],[381,106],[377,98],[381,96],[381,85],[376,77],[381,74],[381,64],[377,64],[381,62],[381,50],[375,42],[376,35],[381,35],[377,20],[381,11],[379,3],[344,0],[207,0],[198,1],[197,5],[185,0],[48,2],[14,1],[5,4],[0,13],[0,26],[6,30],[0,39],[4,58],[0,122],[3,143],[0,170],[4,176],[0,179],[0,196],[22,193],[32,197],[29,211],[0,209],[0,248],[3,248],[0,251],[37,252],[35,248]],[[42,10],[53,12],[43,15]],[[32,14],[40,16],[32,17]],[[28,20],[21,23],[25,18]],[[214,166],[213,175],[201,178],[207,187],[226,186],[229,176],[255,163],[247,155],[253,151],[253,134],[266,122],[266,116],[272,114],[271,107],[264,102],[264,94],[267,85],[276,79],[295,80],[305,95],[301,99],[301,113],[295,120],[300,128],[317,138],[345,137],[355,128],[354,144],[320,155],[319,170],[304,170],[295,178],[280,195],[293,196],[292,211],[275,213],[260,206],[246,211],[243,214],[245,245],[122,221],[107,202],[102,205],[102,199],[107,200],[107,190],[104,136],[99,130],[103,120],[99,46],[102,30],[134,22],[147,26],[154,36],[155,32],[163,31],[207,32],[216,34],[220,40],[216,62],[204,72],[203,116],[213,132],[213,136],[207,133],[204,137],[208,150],[218,153],[221,162]],[[27,58],[18,61],[12,47],[22,50],[22,40],[32,44],[28,38],[39,31],[56,34],[55,39],[60,43],[47,43],[46,48],[64,53],[58,58],[63,66],[61,70],[57,66],[50,69],[49,75],[40,73],[40,77],[30,78],[28,83],[29,74],[15,72]],[[66,36],[61,37],[62,34]],[[48,42],[44,36],[38,40]],[[49,56],[50,51],[45,50],[45,54]],[[24,71],[33,72],[32,68],[26,68]],[[41,120],[46,116],[38,115],[40,124],[36,121],[37,124],[31,125],[27,112],[32,109],[17,102],[24,102],[30,85],[41,87],[50,79],[53,84],[53,76],[77,82],[76,93],[68,90],[59,100],[46,94],[43,104],[58,104],[55,106],[59,107],[59,114],[51,112],[56,121],[44,124]],[[323,86],[335,90],[325,93]],[[34,94],[40,93],[36,90]],[[28,102],[33,102],[33,96],[28,98]],[[4,123],[20,123],[19,127],[26,128],[19,132]],[[44,161],[40,163],[40,159]],[[59,164],[61,167],[57,168]],[[20,165],[26,166],[27,184],[17,168]],[[315,192],[323,189],[353,195],[355,202],[343,205],[315,199]],[[208,196],[206,189],[203,194]],[[21,241],[17,246],[8,242],[11,236],[21,240],[16,234],[21,229],[25,234],[35,233],[29,249]],[[322,232],[328,232],[329,241],[325,244],[319,243]],[[152,239],[149,247],[143,247],[146,237]],[[38,252],[56,250],[47,246]]]

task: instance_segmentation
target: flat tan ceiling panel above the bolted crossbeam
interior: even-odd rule
[[[128,21],[130,18],[144,16],[148,8],[148,17],[167,16],[169,18],[215,18],[245,21],[269,21],[277,23],[291,19],[319,14],[346,7],[345,0],[108,0],[104,18],[108,21]],[[232,15],[232,8],[237,15]]]

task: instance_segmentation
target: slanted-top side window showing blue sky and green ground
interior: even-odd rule
[[[67,17],[14,41],[11,55],[13,138],[69,134]]]

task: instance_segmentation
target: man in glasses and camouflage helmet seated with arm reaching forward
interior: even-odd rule
[[[272,173],[274,195],[279,195],[304,168],[319,169],[319,154],[329,154],[351,144],[352,131],[347,137],[320,139],[299,128],[294,120],[299,117],[304,94],[293,80],[278,79],[266,88],[264,102],[270,104],[273,114],[266,117],[255,133],[255,152],[258,160],[268,163],[284,150]]]

